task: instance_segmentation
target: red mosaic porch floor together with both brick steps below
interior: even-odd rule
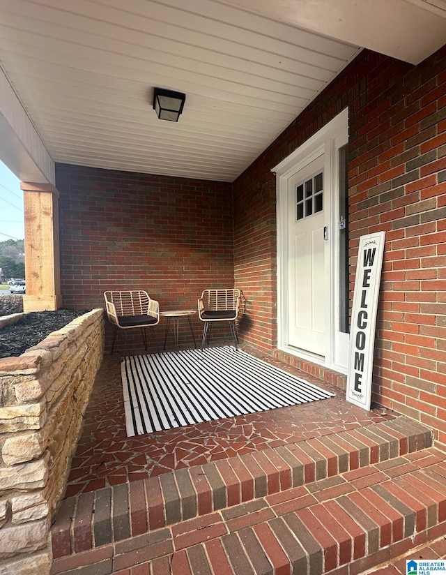
[[[446,457],[430,431],[271,361],[338,396],[127,438],[106,357],[52,575],[399,575],[401,554],[445,557]]]

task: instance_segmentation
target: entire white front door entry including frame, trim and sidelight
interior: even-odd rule
[[[346,109],[273,168],[277,177],[277,347],[344,373],[348,362],[347,142]]]

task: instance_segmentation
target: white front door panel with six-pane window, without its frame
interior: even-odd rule
[[[323,155],[288,180],[289,345],[325,356]]]

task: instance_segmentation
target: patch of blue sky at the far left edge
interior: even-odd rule
[[[0,241],[24,239],[20,180],[0,161]]]

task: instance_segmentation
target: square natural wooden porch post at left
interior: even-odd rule
[[[59,192],[52,184],[22,182],[25,214],[24,311],[62,305],[59,262]]]

